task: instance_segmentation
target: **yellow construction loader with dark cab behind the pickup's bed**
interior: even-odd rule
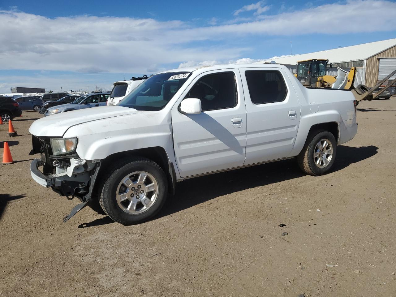
[[[353,89],[356,68],[352,67],[349,71],[345,71],[337,67],[337,76],[331,76],[326,75],[327,63],[329,63],[329,60],[326,59],[298,61],[295,76],[305,87]],[[330,68],[331,65],[332,63],[330,63]]]

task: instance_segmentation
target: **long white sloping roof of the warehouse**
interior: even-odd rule
[[[295,65],[297,61],[304,61],[310,59],[328,59],[332,63],[342,63],[357,60],[366,60],[373,55],[377,55],[385,49],[396,46],[396,38],[358,44],[356,46],[346,46],[345,48],[328,49],[326,51],[316,51],[314,53],[305,53],[303,55],[293,55],[289,57],[283,57],[278,59],[270,59],[253,64],[263,64],[275,61],[278,64],[290,64]]]

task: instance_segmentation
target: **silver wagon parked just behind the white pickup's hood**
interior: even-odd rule
[[[109,98],[110,92],[93,92],[78,97],[72,103],[51,107],[44,112],[44,116],[67,112],[77,109],[86,109],[89,107],[104,106]]]

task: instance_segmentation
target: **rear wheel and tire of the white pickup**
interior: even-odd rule
[[[329,144],[326,145],[324,141]],[[324,145],[326,145],[326,149],[320,149]],[[330,149],[331,152],[329,152]],[[337,143],[333,133],[326,130],[316,130],[308,135],[303,149],[297,156],[297,162],[305,173],[314,176],[322,175],[333,166],[336,152]]]

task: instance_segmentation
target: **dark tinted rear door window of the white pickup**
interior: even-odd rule
[[[287,88],[279,71],[245,71],[251,102],[254,104],[282,102],[286,99]]]

